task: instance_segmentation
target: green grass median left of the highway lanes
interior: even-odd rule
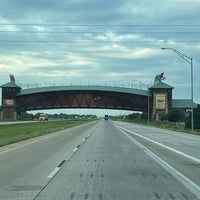
[[[0,125],[0,147],[87,122],[88,120],[60,120]]]

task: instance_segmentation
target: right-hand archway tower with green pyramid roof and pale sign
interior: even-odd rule
[[[172,108],[172,89],[162,81],[150,88],[152,94],[152,120],[161,120]]]

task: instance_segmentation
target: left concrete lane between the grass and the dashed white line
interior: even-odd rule
[[[60,161],[97,125],[91,122],[0,148],[0,199],[33,199]]]

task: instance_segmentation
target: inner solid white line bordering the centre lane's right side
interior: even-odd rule
[[[125,132],[122,132],[128,139],[130,139],[133,143],[135,143],[140,148],[145,149],[145,152],[156,162],[158,162],[165,170],[167,170],[170,174],[172,174],[180,183],[182,183],[188,190],[190,190],[198,199],[200,199],[200,187],[194,183],[192,180],[190,180],[188,177],[183,175],[181,172],[176,170],[174,167],[172,167],[170,164],[166,163],[164,160],[159,158],[157,155],[155,155],[153,152],[151,152],[148,148],[143,146],[141,143],[139,143],[137,140],[132,138],[130,135],[128,135]]]

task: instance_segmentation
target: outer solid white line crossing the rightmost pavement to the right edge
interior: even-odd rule
[[[194,157],[194,156],[190,156],[190,155],[188,155],[188,154],[185,154],[185,153],[183,153],[183,152],[181,152],[181,151],[179,151],[179,150],[173,149],[173,148],[168,147],[168,146],[166,146],[166,145],[164,145],[164,144],[161,144],[161,143],[159,143],[159,142],[156,142],[156,141],[154,141],[154,140],[152,140],[152,139],[149,139],[149,138],[147,138],[147,137],[144,137],[144,136],[142,136],[142,135],[139,135],[139,134],[137,134],[137,133],[135,133],[135,132],[133,132],[133,131],[130,131],[130,130],[126,129],[126,128],[123,128],[123,127],[120,127],[120,126],[117,126],[117,127],[120,128],[120,129],[123,129],[124,131],[127,131],[127,132],[129,132],[129,133],[132,133],[132,134],[134,134],[134,135],[136,135],[136,136],[138,136],[138,137],[140,137],[140,138],[143,138],[143,139],[145,139],[145,140],[148,140],[148,141],[150,141],[150,142],[152,142],[152,143],[154,143],[154,144],[157,144],[157,145],[159,145],[159,146],[161,146],[161,147],[163,147],[163,148],[165,148],[165,149],[168,149],[168,150],[170,150],[170,151],[173,151],[173,152],[175,152],[175,153],[177,153],[177,154],[179,154],[179,155],[181,155],[181,156],[184,156],[184,157],[186,157],[186,158],[188,158],[188,159],[190,159],[190,160],[193,160],[193,161],[195,161],[195,162],[197,162],[197,163],[200,163],[200,159],[198,159],[198,158],[196,158],[196,157]]]

